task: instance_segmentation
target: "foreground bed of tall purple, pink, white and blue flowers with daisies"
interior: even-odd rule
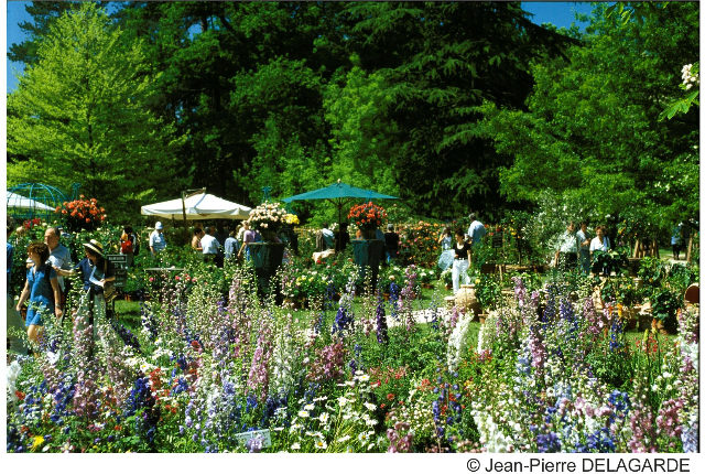
[[[154,288],[135,331],[100,323],[93,356],[89,335],[48,321],[39,356],[9,370],[8,451],[697,449],[692,309],[677,338],[634,341],[614,305],[517,279],[514,303],[478,333],[415,299],[413,268],[389,302],[330,269],[347,278],[339,302],[296,323],[257,297],[247,267],[223,273],[225,292],[208,267],[188,271]],[[239,442],[248,430],[269,438]]]

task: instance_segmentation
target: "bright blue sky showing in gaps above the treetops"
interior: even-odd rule
[[[29,2],[8,1],[7,2],[7,49],[9,51],[12,43],[19,43],[24,35],[19,23],[29,21],[31,17],[26,14],[24,7]],[[534,13],[532,21],[536,24],[553,23],[556,26],[570,26],[575,21],[575,12],[589,13],[592,8],[589,2],[522,2],[522,8]],[[4,12],[3,12],[4,13]],[[584,26],[581,25],[581,26]],[[12,63],[6,57],[7,64],[7,90],[10,93],[17,87],[15,74],[21,74],[22,64]]]

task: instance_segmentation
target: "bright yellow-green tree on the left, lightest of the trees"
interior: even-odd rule
[[[142,44],[126,41],[93,3],[64,13],[8,97],[8,183],[73,182],[108,213],[138,214],[187,183],[183,140],[150,112],[153,77]]]

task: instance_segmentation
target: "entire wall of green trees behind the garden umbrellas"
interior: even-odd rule
[[[100,188],[76,161],[79,147],[36,144],[88,127],[48,114],[51,104],[89,107],[86,85],[57,72],[59,84],[44,87],[48,76],[36,72],[47,67],[37,58],[57,34],[52,25],[80,28],[80,14],[59,13],[79,7],[29,6],[30,39],[11,47],[28,72],[9,98],[10,183],[46,176]],[[534,25],[518,2],[129,2],[107,11],[101,34],[119,31],[119,41],[109,53],[94,49],[89,66],[109,77],[110,60],[124,56],[130,74],[101,93],[112,106],[98,115],[112,134],[94,133],[91,157],[101,158],[91,159],[149,149],[166,164],[124,180],[132,184],[110,201],[128,213],[147,196],[130,185],[174,197],[189,183],[251,205],[263,186],[284,197],[337,179],[438,218],[469,209],[497,218],[535,206],[546,190],[594,216],[636,203],[660,209],[662,222],[697,209],[697,107],[660,120],[680,97],[681,67],[697,61],[695,3],[597,6],[585,34]],[[54,40],[54,61],[63,41]],[[73,176],[52,181],[57,168]],[[97,176],[124,175],[113,168]],[[312,204],[297,209],[305,218]]]

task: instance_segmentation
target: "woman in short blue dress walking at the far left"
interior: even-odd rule
[[[26,252],[32,259],[34,266],[26,271],[26,282],[18,302],[18,312],[29,298],[26,310],[26,335],[31,342],[39,344],[42,335],[42,316],[44,314],[54,313],[56,317],[61,317],[63,312],[61,304],[61,290],[56,271],[52,268],[48,260],[48,246],[44,243],[35,241],[30,244]],[[57,302],[57,304],[55,304]]]

